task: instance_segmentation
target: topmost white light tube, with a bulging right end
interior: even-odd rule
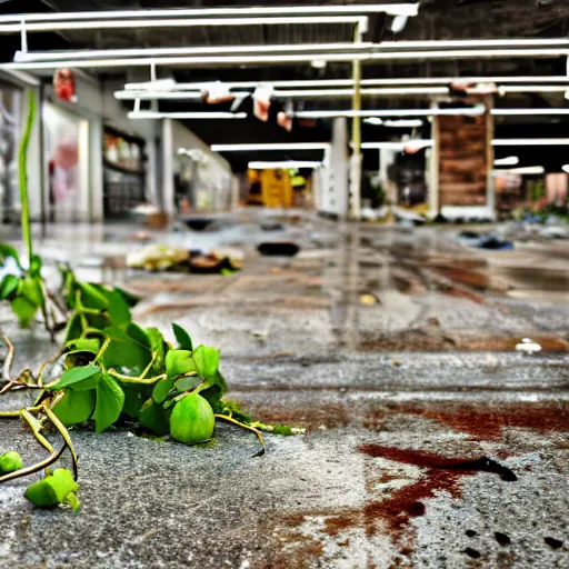
[[[28,22],[64,21],[64,20],[119,20],[129,18],[212,18],[244,16],[295,16],[295,14],[362,14],[388,13],[390,16],[417,16],[419,3],[393,4],[348,4],[348,6],[283,6],[283,7],[251,7],[251,8],[194,8],[194,9],[162,9],[162,10],[104,10],[82,12],[47,12],[27,14],[3,14],[0,22],[20,23],[22,17]]]

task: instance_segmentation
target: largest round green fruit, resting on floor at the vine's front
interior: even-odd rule
[[[198,393],[189,393],[178,401],[170,417],[170,435],[189,445],[211,439],[214,427],[213,410]]]

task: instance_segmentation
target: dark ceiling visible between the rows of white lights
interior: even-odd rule
[[[401,0],[399,0],[401,1]],[[381,0],[390,3],[389,0]],[[79,11],[111,9],[148,9],[148,8],[207,8],[207,7],[252,7],[252,6],[292,6],[305,2],[291,1],[257,1],[257,0],[7,0],[0,1],[0,13],[38,12],[38,11]],[[308,3],[308,2],[307,2]],[[370,0],[341,1],[328,0],[310,2],[318,4],[357,4],[370,3]],[[397,0],[391,3],[398,3]],[[419,16],[410,18],[405,29],[393,36],[390,30],[392,17],[377,14],[370,18],[369,32],[365,41],[380,42],[383,40],[450,40],[450,39],[496,39],[496,38],[560,38],[569,32],[569,0],[422,0]],[[106,30],[64,32],[63,34],[30,34],[30,50],[47,49],[110,49],[110,48],[152,48],[180,46],[242,46],[242,44],[284,44],[284,43],[322,43],[352,41],[353,27],[349,24],[306,24],[306,26],[256,26],[236,28],[187,28],[162,30]],[[4,41],[6,40],[6,41]],[[0,42],[0,59],[10,61],[13,52],[19,49],[19,38],[4,37]],[[313,69],[309,63],[296,66],[214,68],[214,69],[160,69],[161,77],[173,77],[178,81],[201,80],[286,80],[286,79],[333,79],[350,78],[350,63],[328,63],[326,69]],[[114,70],[112,74],[91,71],[100,79],[119,79],[124,81],[148,80],[148,72],[141,69]],[[535,76],[565,74],[566,61],[555,59],[478,59],[478,60],[443,60],[415,62],[373,62],[363,64],[365,78],[382,77],[466,77],[466,76]],[[563,93],[507,96],[498,98],[498,107],[562,107],[567,106]],[[349,99],[318,99],[295,101],[310,109],[329,108],[346,109]],[[132,104],[132,103],[127,103]],[[250,101],[246,101],[242,110],[248,110]],[[365,98],[363,108],[413,108],[425,107],[427,100],[415,98]],[[199,103],[188,101],[160,103],[161,110],[206,110]],[[214,110],[226,110],[217,106]],[[241,109],[240,109],[241,110]],[[276,113],[279,104],[273,104]],[[262,123],[254,118],[234,121],[191,121],[190,128],[209,143],[214,142],[288,142],[328,140],[330,124],[317,121],[311,127],[302,127],[298,121],[291,133],[278,127],[273,120]],[[548,136],[567,137],[569,122],[547,117],[508,118],[497,120],[497,132],[503,138],[523,138]],[[429,136],[429,124],[418,136]],[[386,140],[399,137],[400,129],[385,129],[363,124],[363,140]],[[497,149],[497,154],[503,153]],[[377,151],[371,152],[377,156]],[[508,153],[508,152],[506,152]],[[511,152],[510,152],[511,153]],[[290,153],[290,158],[297,158]],[[233,166],[241,169],[247,156],[228,154]],[[263,154],[264,158],[264,154]],[[269,157],[267,157],[269,158]],[[283,157],[279,153],[279,159]],[[302,158],[310,159],[305,153]],[[316,154],[319,158],[319,154]],[[566,160],[567,161],[567,160]],[[565,162],[563,162],[565,163]]]

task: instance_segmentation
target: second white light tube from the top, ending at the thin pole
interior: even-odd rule
[[[302,23],[353,23],[366,26],[365,16],[289,16],[289,17],[257,17],[257,18],[149,18],[147,20],[66,20],[60,22],[0,23],[0,33],[20,33],[34,31],[66,31],[66,30],[116,30],[127,28],[198,28],[198,27],[228,27],[228,26],[282,26]]]

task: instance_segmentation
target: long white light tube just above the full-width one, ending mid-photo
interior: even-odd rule
[[[206,46],[182,48],[137,48],[137,49],[99,49],[79,51],[17,51],[13,60],[22,61],[58,61],[104,58],[140,58],[168,56],[203,56],[211,53],[259,53],[259,52],[291,52],[291,51],[350,51],[372,47],[369,42],[345,43],[296,43],[276,46]],[[173,81],[173,80],[171,80]],[[148,83],[147,83],[148,84]],[[176,83],[174,83],[176,84]]]

